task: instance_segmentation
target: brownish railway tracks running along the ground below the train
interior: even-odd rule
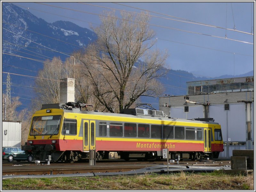
[[[167,161],[154,161],[154,162],[130,162],[130,161],[111,161],[111,162],[97,162],[95,166],[89,166],[86,163],[3,163],[2,174],[3,175],[53,175],[53,174],[78,174],[78,173],[106,173],[106,172],[125,172],[145,167],[151,167],[156,165],[167,165]],[[198,166],[198,167],[209,167],[209,166],[230,166],[229,160],[225,161],[179,161],[170,163],[170,165],[180,166]]]

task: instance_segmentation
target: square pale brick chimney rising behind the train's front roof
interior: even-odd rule
[[[60,79],[60,103],[75,102],[75,79]]]

